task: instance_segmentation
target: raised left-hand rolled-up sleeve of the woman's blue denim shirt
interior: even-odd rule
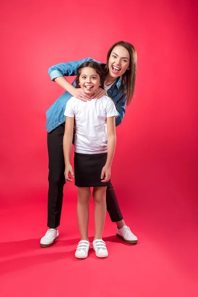
[[[78,67],[82,63],[89,62],[89,61],[96,61],[96,60],[92,58],[86,58],[82,60],[56,64],[54,66],[49,67],[48,74],[52,81],[59,76],[73,76],[77,74]]]

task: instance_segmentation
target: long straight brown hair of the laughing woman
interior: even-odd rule
[[[128,50],[130,55],[130,63],[129,63],[129,70],[126,70],[126,72],[122,75],[122,85],[124,87],[124,92],[127,95],[127,105],[131,103],[131,100],[134,95],[135,91],[135,83],[136,83],[136,71],[137,71],[137,53],[136,49],[133,45],[126,41],[118,41],[114,45],[111,46],[111,48],[107,52],[107,58],[106,58],[106,66],[105,66],[105,74],[108,73],[108,62],[110,58],[110,54],[112,50],[117,47],[121,46]]]

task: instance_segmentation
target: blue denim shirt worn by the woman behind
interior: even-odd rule
[[[51,80],[59,76],[72,76],[77,74],[78,67],[87,61],[95,61],[92,58],[86,58],[83,60],[67,62],[67,63],[60,63],[54,65],[49,68],[48,73]],[[101,62],[98,62],[102,64]],[[121,124],[124,114],[125,114],[125,107],[126,107],[126,94],[124,93],[123,87],[121,87],[121,80],[122,77],[119,77],[117,81],[111,86],[111,88],[107,91],[107,94],[111,99],[114,100],[118,116],[115,119],[115,125],[118,126]],[[72,83],[75,87],[75,81]],[[47,123],[46,129],[48,132],[51,132],[53,129],[61,125],[65,122],[65,106],[67,101],[72,97],[71,94],[65,92],[62,96],[60,96],[46,111]]]

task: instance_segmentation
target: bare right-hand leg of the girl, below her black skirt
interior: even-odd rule
[[[101,239],[106,217],[106,187],[94,187],[95,203],[95,238]]]

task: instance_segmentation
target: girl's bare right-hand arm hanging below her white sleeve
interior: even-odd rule
[[[106,164],[102,168],[101,179],[103,183],[106,183],[110,179],[111,164],[113,161],[115,147],[116,147],[116,134],[115,134],[115,116],[108,117],[107,123],[107,159]],[[104,177],[105,175],[105,177]]]

